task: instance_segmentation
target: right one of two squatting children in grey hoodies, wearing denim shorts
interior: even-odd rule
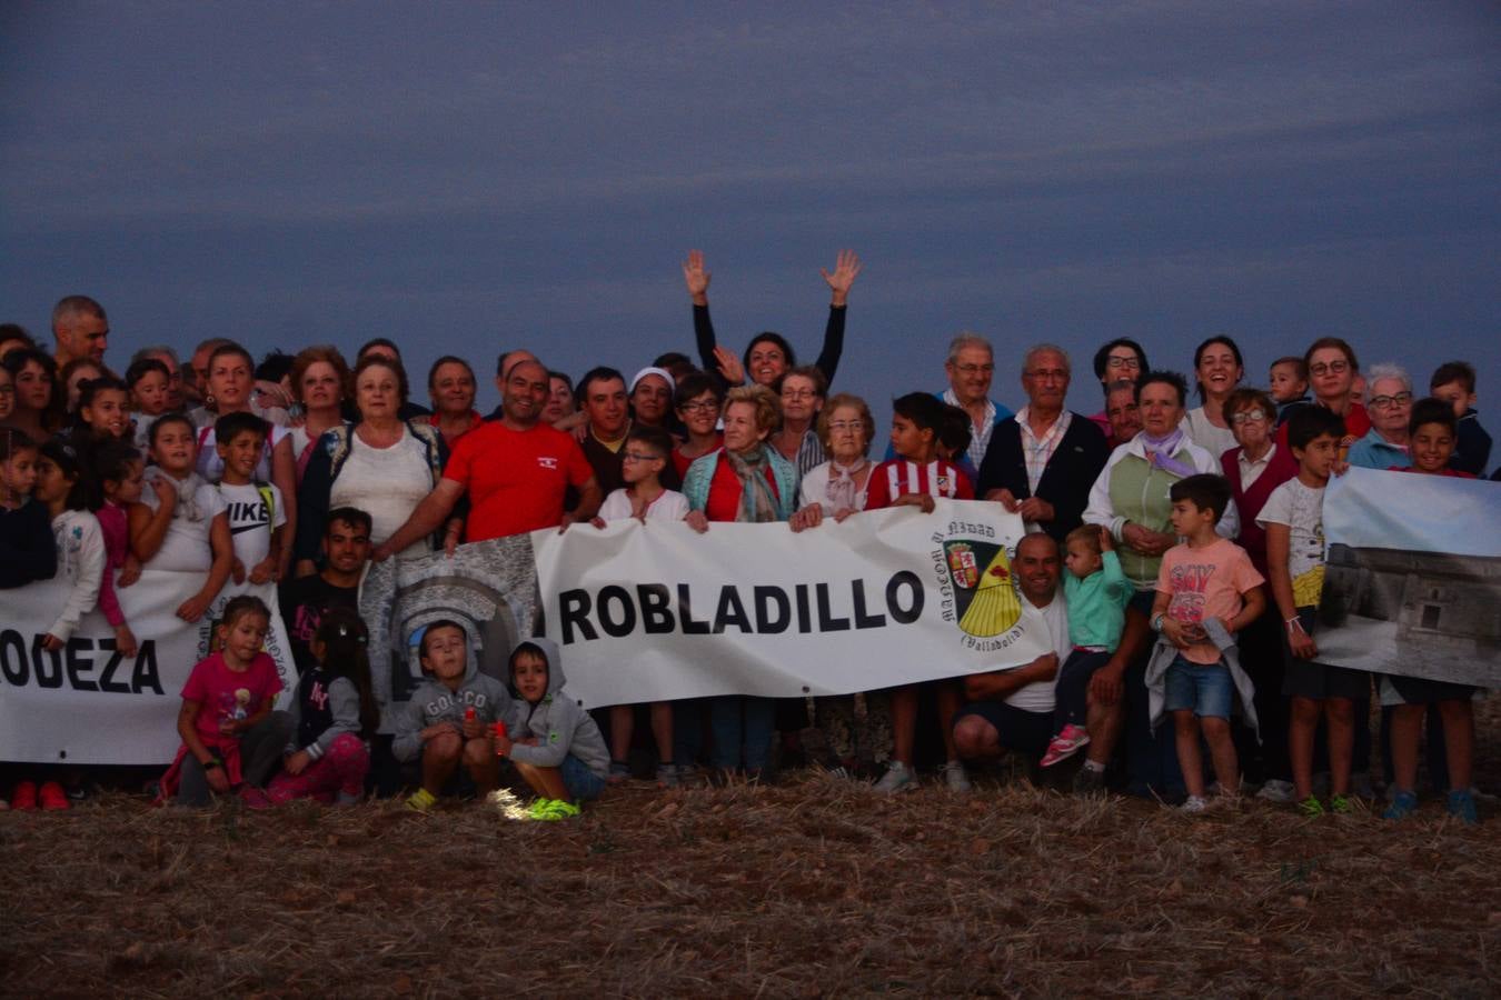
[[[563,693],[563,661],[546,639],[524,639],[510,654],[507,735],[495,753],[510,757],[537,793],[534,819],[578,816],[578,802],[597,798],[609,777],[609,750],[594,720]]]

